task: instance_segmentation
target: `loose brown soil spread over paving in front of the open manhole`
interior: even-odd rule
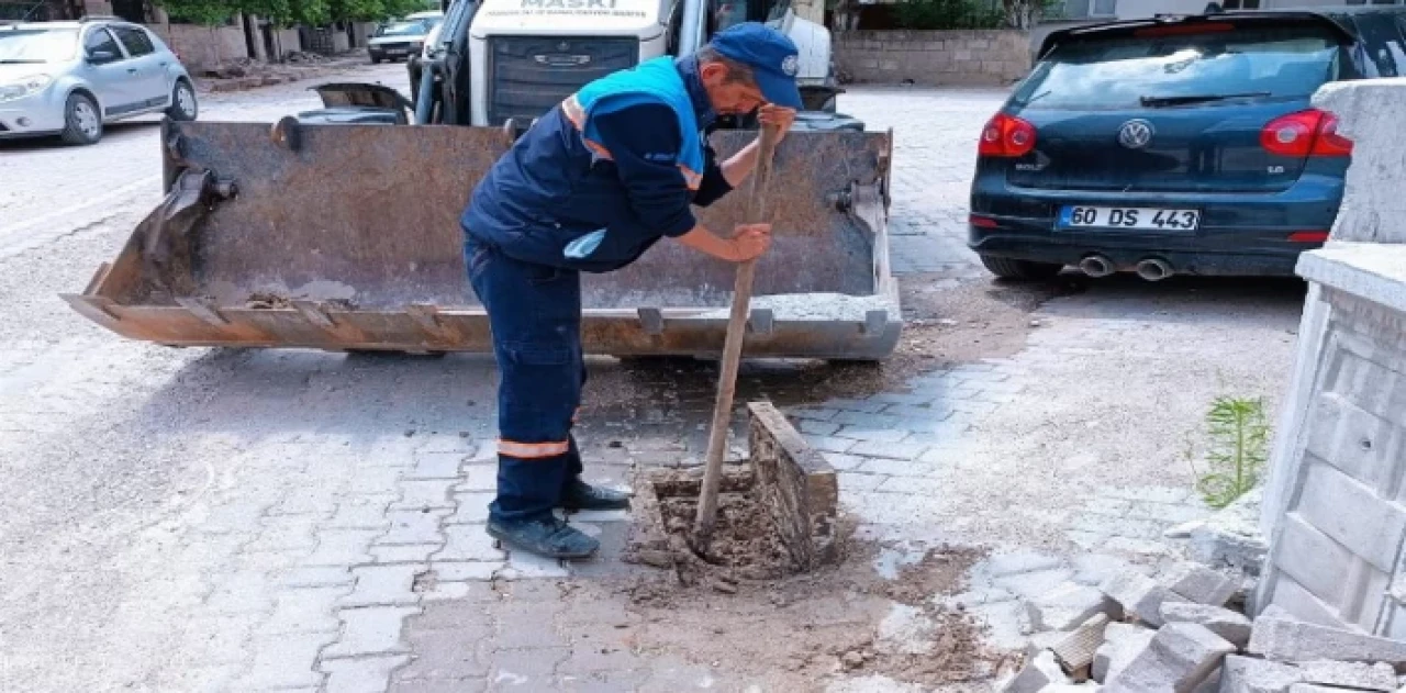
[[[775,544],[752,541],[749,514],[740,519],[735,527],[744,541],[723,558],[772,565]],[[737,593],[718,593],[702,582],[683,585],[669,571],[654,571],[613,588],[593,583],[572,599],[603,599],[593,590],[609,589],[638,617],[627,637],[636,651],[682,656],[766,690],[823,690],[832,678],[870,675],[925,689],[988,685],[1001,654],[984,645],[977,621],[943,603],[967,589],[967,571],[986,552],[932,547],[889,579],[877,562],[893,547],[852,534],[852,527],[842,533],[835,564],[745,582]]]

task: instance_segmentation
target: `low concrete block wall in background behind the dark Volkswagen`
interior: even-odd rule
[[[1029,34],[990,31],[844,31],[835,66],[856,83],[1011,84],[1031,69]]]

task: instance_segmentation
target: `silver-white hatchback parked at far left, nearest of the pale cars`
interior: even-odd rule
[[[0,25],[0,139],[91,145],[103,124],[152,112],[193,121],[195,87],[146,27],[89,17]]]

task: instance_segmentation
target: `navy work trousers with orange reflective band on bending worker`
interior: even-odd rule
[[[472,238],[464,260],[498,360],[498,498],[489,517],[543,519],[581,475],[571,434],[586,382],[581,276],[515,260]]]

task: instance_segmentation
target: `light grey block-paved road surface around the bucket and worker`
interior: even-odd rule
[[[228,112],[285,112],[307,103],[299,87],[235,97]],[[910,283],[987,283],[963,246],[963,181],[998,101],[844,97],[896,131],[891,224]],[[111,150],[153,145],[145,129],[131,138]],[[60,186],[67,150],[20,152],[35,183],[6,198],[7,222],[76,194]],[[112,166],[132,167],[125,180],[150,164]],[[488,541],[491,360],[167,350],[67,311],[55,294],[82,288],[150,204],[143,193],[105,221],[42,225],[0,254],[0,690],[797,690],[749,669],[749,648],[768,644],[700,658],[612,592],[631,575],[614,559],[624,513],[574,519],[607,548],[575,566]],[[976,613],[994,642],[1018,645],[1014,595],[1078,574],[1070,554],[1153,559],[1168,551],[1161,529],[1204,512],[1187,433],[1222,392],[1274,406],[1299,301],[1275,283],[1102,281],[1040,306],[1012,354],[844,399],[758,367],[741,396],[786,405],[842,469],[860,536],[903,541],[900,561],[939,541],[1004,551],[972,588],[1005,590]],[[595,479],[702,457],[710,370],[592,365]],[[830,602],[800,606],[835,626]],[[713,623],[748,631],[742,617]],[[800,687],[859,690],[844,679]]]

